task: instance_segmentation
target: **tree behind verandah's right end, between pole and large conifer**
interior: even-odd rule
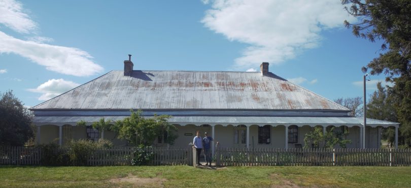
[[[389,93],[381,85],[381,82],[377,83],[377,90],[372,93],[367,104],[367,118],[398,121],[395,108],[390,102]],[[395,141],[395,130],[392,127],[383,129],[382,137],[392,146]]]

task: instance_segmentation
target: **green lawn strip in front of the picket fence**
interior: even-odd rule
[[[2,187],[410,187],[411,167],[14,167]]]

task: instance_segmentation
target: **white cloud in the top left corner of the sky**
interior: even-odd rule
[[[0,23],[23,34],[37,29],[36,22],[23,13],[22,5],[14,0],[0,0]]]

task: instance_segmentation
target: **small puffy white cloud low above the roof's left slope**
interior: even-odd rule
[[[39,100],[45,101],[53,97],[56,97],[60,95],[61,93],[66,92],[70,89],[73,89],[79,85],[80,84],[78,83],[75,83],[72,81],[66,81],[64,79],[51,79],[45,83],[42,83],[36,89],[27,89],[27,90],[31,92],[43,93],[43,95],[40,96]]]

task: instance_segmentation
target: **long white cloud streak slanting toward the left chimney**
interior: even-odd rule
[[[81,49],[23,41],[3,32],[0,32],[0,53],[16,53],[47,70],[67,75],[90,76],[103,70]]]

